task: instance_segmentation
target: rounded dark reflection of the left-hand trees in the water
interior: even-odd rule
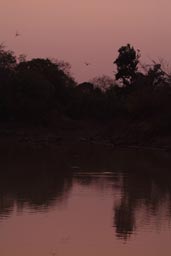
[[[0,179],[0,218],[8,217],[14,207],[46,211],[67,199],[72,187],[70,175],[55,172],[3,173]]]

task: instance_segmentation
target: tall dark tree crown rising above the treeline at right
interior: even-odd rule
[[[134,49],[130,44],[122,46],[118,50],[119,56],[114,61],[117,65],[117,73],[115,75],[116,80],[121,79],[123,85],[131,85],[136,78],[136,72],[138,70],[138,63],[140,58],[140,51]]]

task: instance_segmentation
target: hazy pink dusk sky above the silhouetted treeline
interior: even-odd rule
[[[169,0],[1,0],[0,41],[17,55],[68,61],[79,82],[113,77],[117,50],[127,43],[143,62],[171,63],[170,10]]]

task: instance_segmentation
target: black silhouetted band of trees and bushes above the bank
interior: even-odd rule
[[[96,122],[113,144],[167,143],[171,137],[171,76],[160,63],[142,68],[140,51],[118,50],[115,80],[77,84],[65,62],[17,58],[0,46],[0,124],[58,129],[62,120]],[[74,121],[73,121],[74,120]],[[171,141],[171,140],[170,140]]]

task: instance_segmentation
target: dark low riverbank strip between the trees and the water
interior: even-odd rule
[[[0,148],[55,148],[76,144],[101,144],[115,148],[171,150],[171,134],[159,132],[147,122],[116,120],[97,122],[67,118],[55,125],[4,123],[0,126]]]

